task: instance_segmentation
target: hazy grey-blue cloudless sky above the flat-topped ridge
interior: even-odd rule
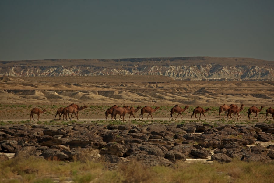
[[[274,1],[0,1],[0,60],[186,56],[274,61]]]

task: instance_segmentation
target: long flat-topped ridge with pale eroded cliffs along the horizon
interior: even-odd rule
[[[0,61],[0,76],[163,75],[176,80],[273,81],[274,62],[249,58]]]

